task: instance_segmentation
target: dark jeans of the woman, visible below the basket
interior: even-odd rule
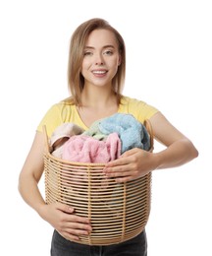
[[[147,256],[145,230],[128,241],[106,246],[72,242],[54,230],[51,256]]]

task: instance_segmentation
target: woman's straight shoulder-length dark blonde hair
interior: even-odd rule
[[[65,101],[69,101],[70,103],[76,105],[81,105],[80,96],[84,86],[84,79],[80,73],[80,70],[85,41],[90,32],[100,29],[113,32],[118,42],[122,63],[119,65],[117,74],[113,78],[112,86],[114,93],[117,96],[117,101],[120,103],[126,75],[125,41],[122,35],[112,26],[110,26],[108,22],[97,18],[82,23],[72,35],[68,64],[68,85],[72,96],[67,98]]]

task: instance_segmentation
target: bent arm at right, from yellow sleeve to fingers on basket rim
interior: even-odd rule
[[[162,113],[156,113],[149,121],[155,139],[165,145],[166,149],[159,153],[132,149],[120,159],[106,164],[104,172],[107,176],[116,177],[117,182],[125,182],[155,169],[180,166],[198,156],[193,144]]]

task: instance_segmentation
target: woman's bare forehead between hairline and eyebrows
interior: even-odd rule
[[[114,32],[108,30],[94,30],[90,32],[85,41],[85,46],[98,47],[104,45],[113,45],[118,47],[118,41]]]

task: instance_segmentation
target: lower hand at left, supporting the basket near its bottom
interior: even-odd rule
[[[68,240],[78,241],[79,235],[88,235],[92,229],[87,218],[75,215],[73,207],[62,203],[43,205],[39,214]]]

